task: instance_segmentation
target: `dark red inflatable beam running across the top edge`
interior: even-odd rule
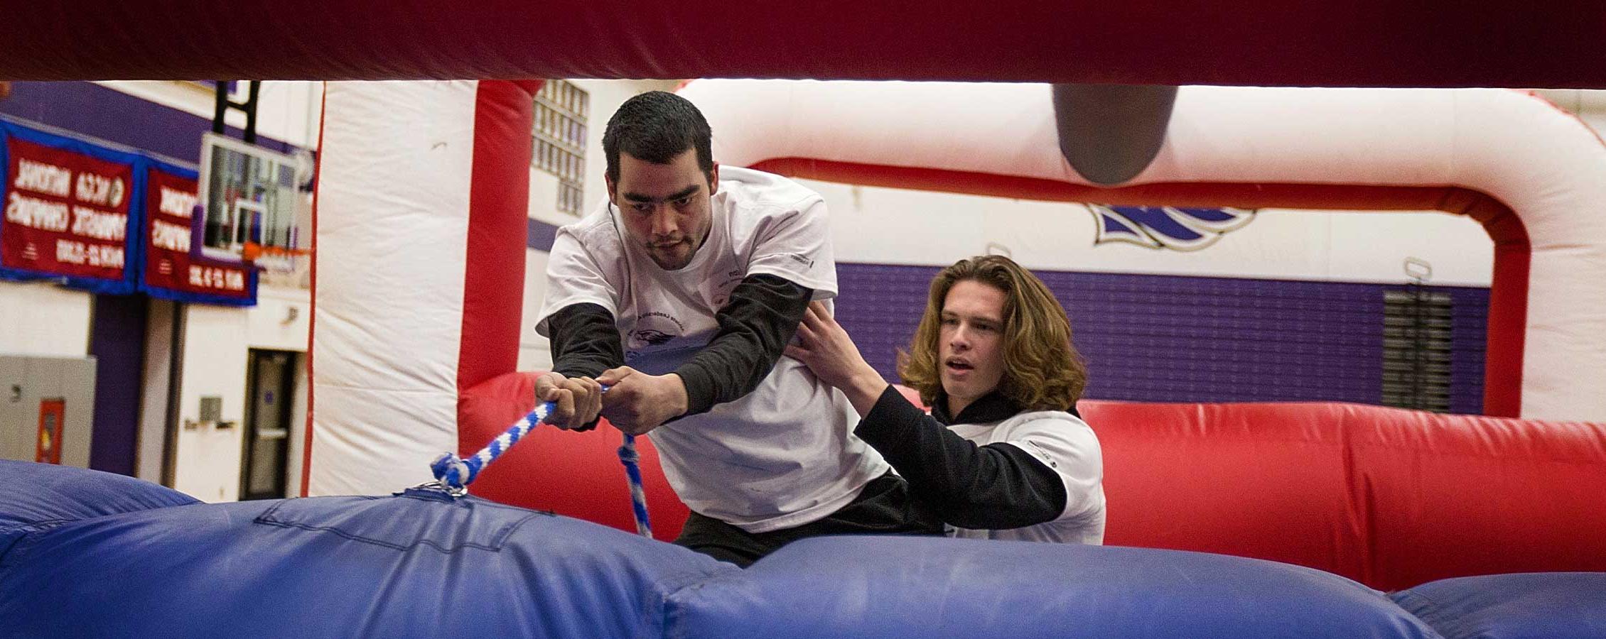
[[[1606,87],[1598,3],[6,3],[0,79],[814,77]]]

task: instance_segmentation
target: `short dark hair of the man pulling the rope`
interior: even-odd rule
[[[689,100],[666,92],[641,93],[620,104],[602,132],[607,177],[618,181],[620,151],[644,162],[670,164],[691,148],[697,149],[697,165],[708,175],[713,172],[711,138],[708,120]]]

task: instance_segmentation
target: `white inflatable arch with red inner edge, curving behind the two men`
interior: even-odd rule
[[[718,122],[721,162],[798,177],[1471,215],[1495,242],[1484,413],[1606,421],[1606,144],[1534,95],[1185,87],[1160,156],[1123,188],[1060,156],[1049,85],[697,80],[681,95]]]

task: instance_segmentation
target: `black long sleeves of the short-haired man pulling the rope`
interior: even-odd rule
[[[813,297],[813,289],[763,273],[731,289],[729,302],[715,313],[719,331],[675,369],[686,384],[683,416],[707,413],[753,392],[776,366]],[[552,371],[565,377],[596,377],[625,364],[615,318],[601,305],[564,307],[552,313],[548,328]]]

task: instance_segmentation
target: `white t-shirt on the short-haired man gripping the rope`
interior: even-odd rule
[[[665,271],[625,241],[618,209],[602,204],[557,230],[536,331],[575,303],[613,313],[625,364],[666,374],[719,331],[715,313],[731,289],[766,273],[837,295],[825,201],[782,178],[719,167],[708,239],[691,263]],[[827,302],[829,303],[829,302]],[[853,435],[842,392],[782,356],[747,397],[652,430],[675,493],[692,511],[763,533],[814,522],[846,506],[887,461]]]

